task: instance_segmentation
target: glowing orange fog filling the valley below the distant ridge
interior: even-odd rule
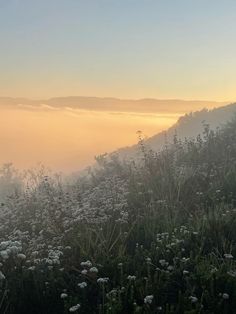
[[[158,133],[179,116],[44,106],[0,109],[0,167],[13,162],[27,169],[42,162],[65,172],[92,164],[95,155],[137,143],[137,130],[147,136]]]

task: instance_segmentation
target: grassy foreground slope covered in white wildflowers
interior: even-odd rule
[[[140,149],[4,199],[0,313],[236,313],[236,120]]]

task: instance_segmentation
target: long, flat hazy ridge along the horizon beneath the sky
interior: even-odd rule
[[[32,100],[26,98],[0,97],[0,106],[18,106],[24,109],[66,108],[108,112],[136,112],[136,113],[188,113],[201,108],[215,108],[226,102],[179,100],[179,99],[118,99],[99,97],[58,97],[51,99]],[[46,106],[45,106],[46,105]]]

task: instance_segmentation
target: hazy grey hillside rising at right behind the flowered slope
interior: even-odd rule
[[[195,138],[199,134],[202,134],[204,124],[209,124],[210,129],[214,130],[230,121],[235,114],[236,103],[212,110],[202,109],[185,114],[168,130],[144,140],[145,146],[147,149],[159,151],[167,143],[171,143],[175,135],[177,135],[179,139]],[[115,153],[118,153],[118,155],[124,159],[135,159],[140,155],[140,147],[139,145],[124,147],[117,150]]]

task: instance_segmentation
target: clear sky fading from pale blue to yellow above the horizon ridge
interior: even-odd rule
[[[235,0],[0,0],[0,96],[235,100]]]

